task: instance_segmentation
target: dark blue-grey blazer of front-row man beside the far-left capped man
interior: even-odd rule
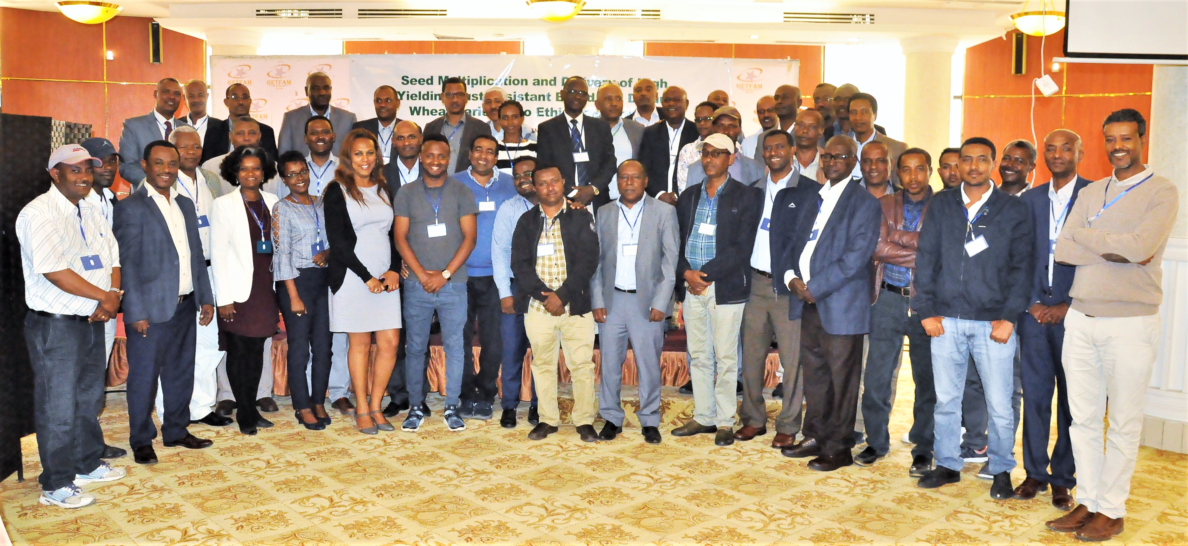
[[[190,279],[198,305],[214,305],[207,261],[198,240],[198,218],[194,202],[183,195],[176,198],[185,218],[190,243]],[[163,323],[177,311],[178,258],[169,224],[160,209],[141,185],[115,203],[112,230],[120,243],[120,286],[124,288],[124,323],[148,320]]]

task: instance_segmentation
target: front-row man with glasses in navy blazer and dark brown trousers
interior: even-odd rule
[[[791,204],[803,209],[772,272],[792,292],[788,318],[801,320],[800,363],[808,406],[802,427],[805,440],[781,452],[816,456],[809,468],[820,471],[854,463],[849,450],[862,374],[862,335],[871,330],[871,256],[879,242],[883,210],[866,188],[849,178],[857,164],[854,139],[829,139],[821,153],[828,184],[816,192],[811,185],[796,189]]]

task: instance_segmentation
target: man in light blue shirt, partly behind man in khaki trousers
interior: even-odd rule
[[[491,231],[491,264],[494,268],[495,287],[499,290],[499,305],[503,310],[500,330],[503,334],[503,382],[504,392],[500,401],[503,414],[499,425],[504,428],[516,427],[516,408],[520,401],[520,381],[524,376],[524,355],[527,354],[527,334],[524,331],[524,315],[516,313],[513,306],[512,278],[512,234],[519,217],[536,207],[536,186],[532,184],[532,171],[536,158],[525,155],[516,159],[512,176],[516,180],[516,197],[504,201],[495,212],[495,226]],[[527,421],[536,425],[539,420],[536,412],[536,388],[532,389],[532,404],[527,410]]]

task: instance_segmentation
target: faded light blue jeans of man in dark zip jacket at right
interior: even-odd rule
[[[960,471],[961,400],[966,372],[973,356],[986,393],[990,413],[990,474],[1015,468],[1015,415],[1011,394],[1015,391],[1015,349],[1018,335],[1012,331],[1006,343],[990,338],[988,320],[944,317],[944,334],[933,338],[933,380],[936,385],[934,445],[936,464]]]

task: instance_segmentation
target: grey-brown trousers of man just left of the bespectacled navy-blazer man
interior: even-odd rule
[[[742,410],[744,426],[767,426],[763,400],[763,375],[767,349],[775,336],[784,368],[784,407],[776,417],[776,432],[796,436],[803,417],[804,385],[801,377],[801,322],[788,319],[789,296],[777,296],[772,280],[751,272],[751,300],[742,310]]]

